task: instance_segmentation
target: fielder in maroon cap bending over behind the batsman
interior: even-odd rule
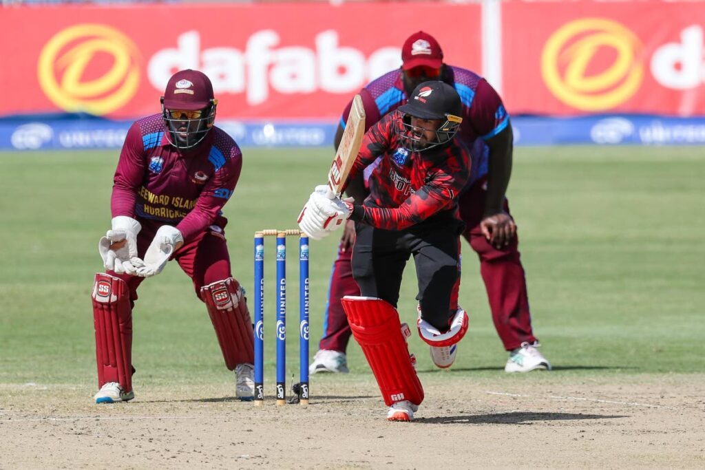
[[[529,311],[524,268],[520,261],[516,225],[509,213],[505,190],[509,183],[513,134],[501,98],[483,78],[470,70],[443,63],[443,51],[434,37],[416,32],[402,48],[403,66],[373,80],[360,92],[367,128],[382,116],[407,102],[420,82],[443,80],[453,86],[462,100],[462,124],[458,136],[472,149],[472,173],[458,199],[460,217],[465,222],[463,237],[477,252],[480,273],[489,297],[494,325],[505,350],[510,352],[505,371],[527,372],[551,369],[536,349]],[[352,101],[343,112],[336,135],[336,149],[350,113]],[[348,186],[356,200],[367,196],[365,182]],[[357,295],[350,254],[355,231],[348,223],[333,264],[329,299],[324,314],[324,335],[309,372],[347,372],[345,350],[350,327],[339,299]]]

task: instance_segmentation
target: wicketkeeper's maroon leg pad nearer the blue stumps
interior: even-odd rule
[[[233,278],[201,287],[218,343],[231,371],[238,364],[255,364],[255,335],[243,288]]]

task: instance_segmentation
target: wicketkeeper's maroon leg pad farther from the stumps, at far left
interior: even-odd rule
[[[95,275],[93,284],[93,324],[98,388],[118,382],[132,391],[132,308],[130,290],[120,278]]]

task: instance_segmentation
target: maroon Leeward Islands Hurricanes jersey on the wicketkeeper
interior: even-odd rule
[[[212,128],[192,151],[169,144],[160,114],[135,121],[115,171],[113,217],[143,225],[175,225],[185,242],[212,225],[233,194],[243,155],[238,144]]]

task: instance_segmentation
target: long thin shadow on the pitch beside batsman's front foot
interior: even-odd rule
[[[531,424],[535,421],[615,419],[627,417],[628,416],[620,414],[511,412],[475,415],[468,414],[465,416],[441,416],[439,418],[417,418],[414,422],[426,424]]]

